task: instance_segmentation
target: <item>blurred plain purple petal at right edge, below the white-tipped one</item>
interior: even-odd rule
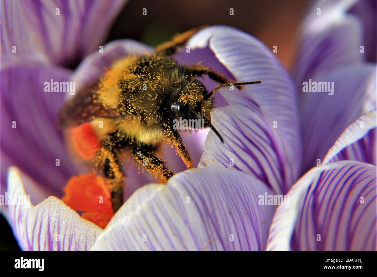
[[[343,66],[311,78],[312,83],[334,82],[333,95],[299,92],[305,95],[301,106],[303,170],[316,166],[346,127],[375,108],[375,76],[375,65]]]

